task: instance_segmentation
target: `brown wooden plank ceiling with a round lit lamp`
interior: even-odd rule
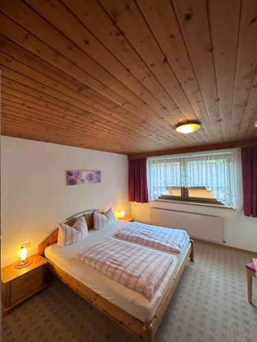
[[[254,140],[256,0],[1,0],[1,133],[117,153]],[[191,135],[178,122],[199,120]]]

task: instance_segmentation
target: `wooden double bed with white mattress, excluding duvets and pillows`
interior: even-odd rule
[[[188,239],[180,254],[171,253],[174,256],[174,262],[154,297],[149,300],[142,293],[125,287],[125,285],[101,274],[97,269],[73,258],[77,250],[93,246],[103,237],[114,235],[130,222],[119,221],[109,228],[97,231],[92,229],[93,211],[90,211],[74,215],[66,221],[66,224],[72,225],[81,215],[84,215],[88,224],[86,239],[77,244],[58,247],[57,229],[38,246],[39,254],[45,255],[48,259],[49,271],[71,289],[139,339],[153,342],[175,287],[182,276],[186,261],[189,258],[193,261],[193,241]]]

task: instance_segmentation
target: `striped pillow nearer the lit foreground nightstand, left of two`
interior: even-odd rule
[[[59,224],[58,233],[58,246],[68,246],[75,244],[78,241],[82,241],[88,235],[88,225],[84,216],[78,218],[73,226],[68,226],[67,224]]]

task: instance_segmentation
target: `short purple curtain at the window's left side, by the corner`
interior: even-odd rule
[[[128,197],[130,202],[147,203],[147,159],[129,159]]]

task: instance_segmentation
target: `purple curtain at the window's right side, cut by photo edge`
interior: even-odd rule
[[[243,210],[257,218],[257,146],[241,148],[243,174]]]

